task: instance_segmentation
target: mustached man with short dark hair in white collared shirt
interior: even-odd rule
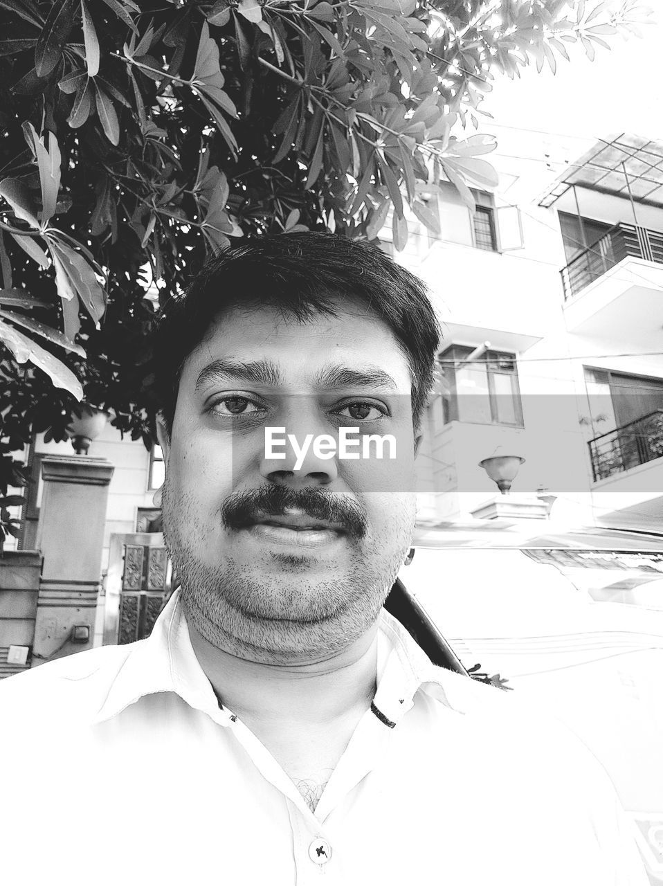
[[[148,640],[0,686],[27,882],[644,886],[589,752],[382,610],[438,344],[417,279],[332,235],[230,249],[167,307],[181,587]]]

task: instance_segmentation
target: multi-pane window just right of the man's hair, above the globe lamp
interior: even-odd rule
[[[466,361],[472,347],[453,345],[440,356],[448,393],[442,395],[444,423],[523,426],[515,354],[487,351]]]

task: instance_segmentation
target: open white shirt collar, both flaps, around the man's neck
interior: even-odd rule
[[[457,710],[449,700],[448,676],[454,675],[434,665],[401,623],[382,610],[378,622],[378,688],[372,705],[378,719],[395,726],[412,707],[420,689]],[[127,647],[127,656],[94,722],[111,719],[143,696],[159,692],[174,692],[221,725],[230,723],[230,712],[219,705],[193,651],[179,590],[160,612],[150,636]]]

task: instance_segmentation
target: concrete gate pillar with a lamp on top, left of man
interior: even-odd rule
[[[113,465],[46,455],[37,548],[43,556],[32,664],[91,649]]]

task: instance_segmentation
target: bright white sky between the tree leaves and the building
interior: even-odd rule
[[[541,74],[531,65],[521,68],[520,79],[496,78],[481,105],[494,119],[481,117],[480,131],[498,140],[497,151],[486,159],[495,162],[501,153],[532,158],[522,164],[528,177],[538,178],[539,170],[542,181],[551,181],[565,161],[599,137],[631,132],[663,139],[663,12],[641,30],[642,38],[605,38],[612,50],[597,46],[593,62],[581,46],[567,43],[571,61],[558,57],[554,75],[547,65]]]

